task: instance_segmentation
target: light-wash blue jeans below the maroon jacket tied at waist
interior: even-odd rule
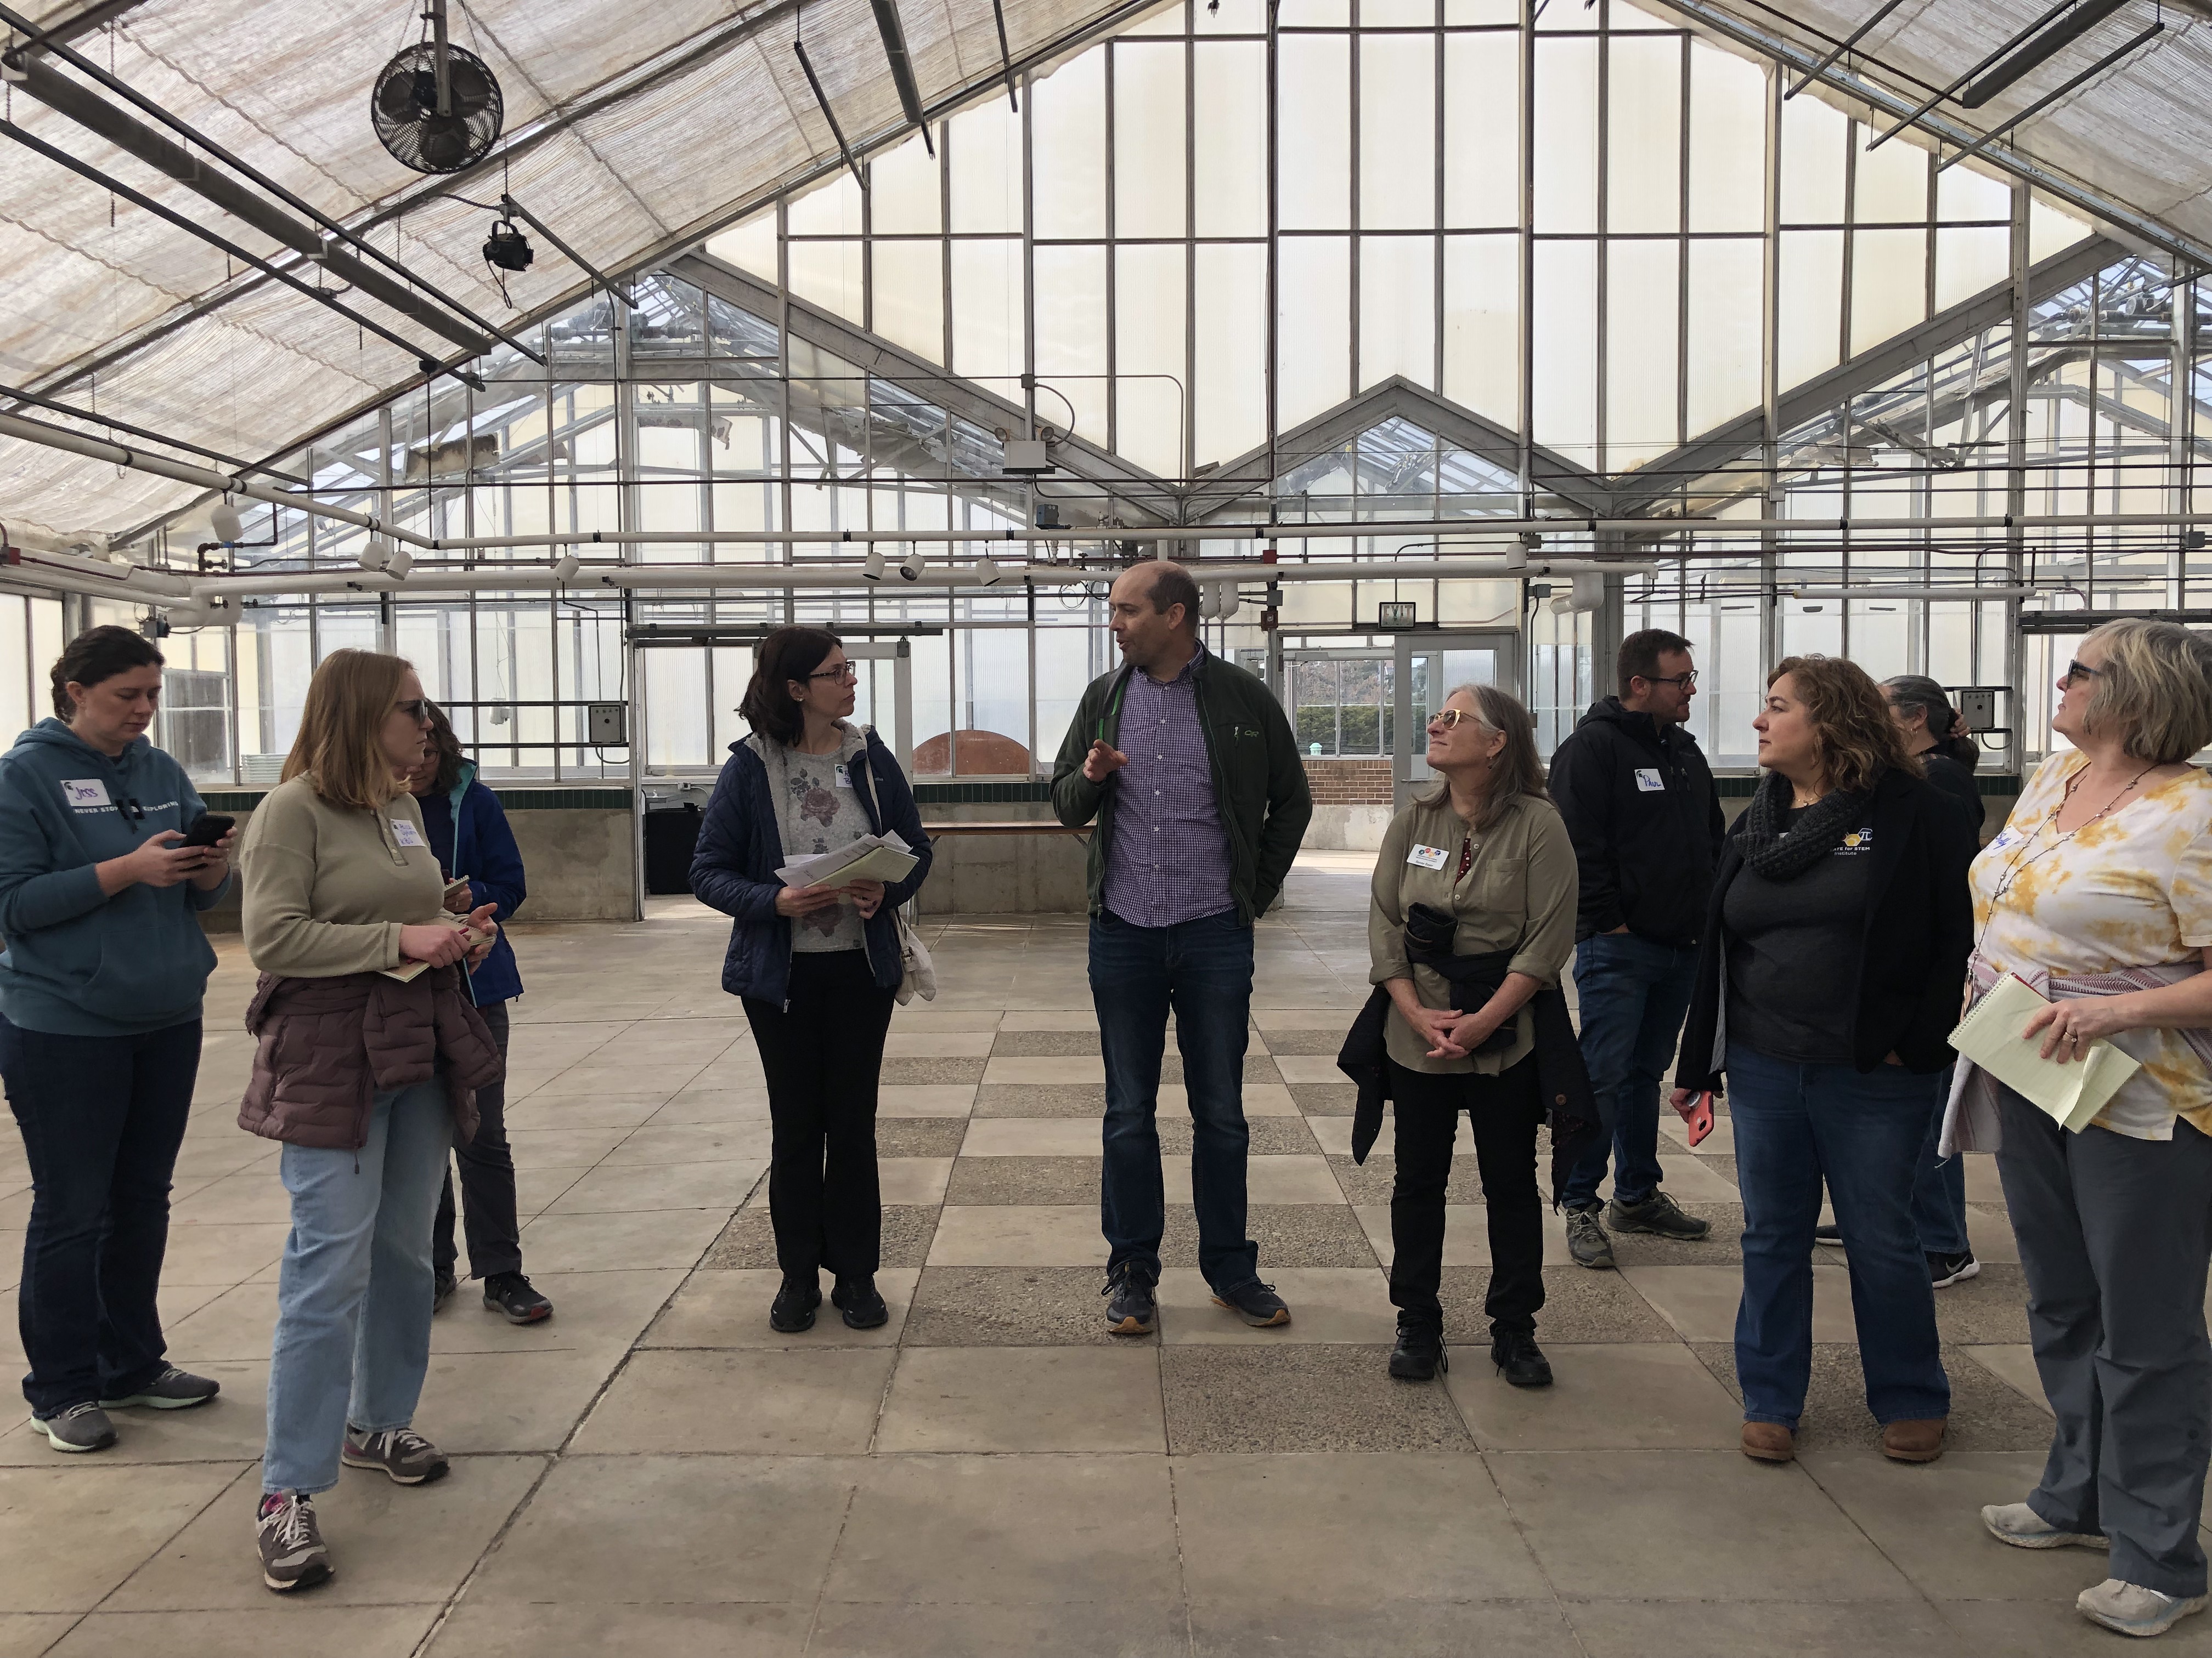
[[[276,1276],[261,1490],[338,1483],[345,1428],[405,1428],[429,1371],[429,1229],[453,1112],[445,1081],[383,1092],[358,1152],[283,1147],[292,1236]]]

